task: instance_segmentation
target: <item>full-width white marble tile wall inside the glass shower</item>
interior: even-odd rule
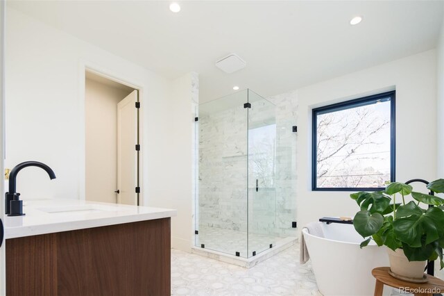
[[[251,233],[296,236],[291,222],[296,221],[296,133],[292,126],[296,125],[297,97],[292,92],[268,101],[275,106],[252,102],[248,119],[244,106],[200,115],[196,209],[200,225],[247,231],[248,219]],[[249,129],[275,124],[273,186],[259,192],[251,163],[247,189],[247,120]]]

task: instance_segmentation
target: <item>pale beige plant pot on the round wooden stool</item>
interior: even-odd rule
[[[427,281],[424,277],[427,261],[409,261],[402,249],[393,251],[387,248],[387,254],[388,260],[390,261],[390,274],[392,277],[413,283]]]

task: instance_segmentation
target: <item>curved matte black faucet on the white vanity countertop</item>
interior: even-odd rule
[[[40,167],[49,174],[51,180],[56,179],[56,174],[51,170],[51,167],[44,163],[25,161],[24,163],[16,165],[9,173],[9,191],[5,194],[5,213],[8,214],[8,216],[25,215],[23,213],[23,201],[20,200],[20,193],[15,192],[17,174],[25,167]]]

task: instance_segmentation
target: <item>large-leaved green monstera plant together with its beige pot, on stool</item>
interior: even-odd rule
[[[436,193],[444,192],[444,179],[429,183],[427,188]],[[357,192],[350,197],[361,208],[353,219],[356,231],[366,238],[361,248],[370,240],[379,247],[385,245],[391,275],[421,282],[426,281],[427,260],[439,258],[441,269],[444,267],[444,199],[412,190],[410,185],[393,182],[384,191]],[[406,202],[409,195],[413,200]],[[421,207],[421,203],[432,207]]]

